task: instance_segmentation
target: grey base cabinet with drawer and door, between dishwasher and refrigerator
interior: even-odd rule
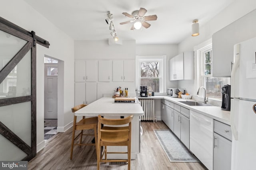
[[[231,127],[214,120],[214,170],[231,170],[231,140]]]

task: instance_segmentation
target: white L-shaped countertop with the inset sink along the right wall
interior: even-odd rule
[[[222,123],[226,123],[230,125],[230,111],[224,111],[220,107],[217,106],[188,106],[186,104],[180,103],[180,101],[187,101],[187,99],[182,98],[172,98],[169,96],[148,96],[148,97],[138,97],[139,99],[165,99],[170,102],[176,103],[182,107],[187,109],[196,111],[208,117],[211,117],[215,120],[218,120]],[[193,100],[191,100],[193,101]]]

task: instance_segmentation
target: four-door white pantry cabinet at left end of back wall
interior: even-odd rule
[[[75,106],[97,100],[97,61],[75,61]]]

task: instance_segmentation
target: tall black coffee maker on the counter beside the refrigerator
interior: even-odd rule
[[[222,93],[221,109],[222,110],[230,111],[230,100],[231,100],[230,89],[231,89],[231,86],[228,84],[222,86],[221,88],[221,93]]]

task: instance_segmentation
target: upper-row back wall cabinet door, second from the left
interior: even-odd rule
[[[97,61],[86,61],[86,82],[97,81]]]

